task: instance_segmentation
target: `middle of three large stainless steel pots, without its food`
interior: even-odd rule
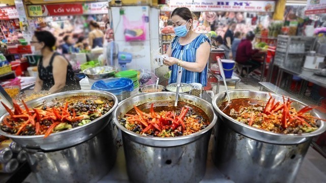
[[[172,92],[133,96],[119,103],[114,112],[113,120],[122,131],[127,172],[132,182],[199,182],[203,178],[208,142],[216,116],[208,102],[187,94],[179,95],[179,101],[204,110],[210,120],[208,127],[187,136],[159,138],[142,136],[120,125],[118,118],[123,117],[133,105],[158,101],[157,105],[173,105],[175,93]]]

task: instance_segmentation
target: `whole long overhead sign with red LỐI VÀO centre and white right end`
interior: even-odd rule
[[[38,16],[67,16],[83,14],[106,14],[106,2],[29,5],[28,12],[31,17]]]

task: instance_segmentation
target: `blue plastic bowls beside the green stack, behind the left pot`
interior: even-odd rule
[[[110,92],[122,101],[131,96],[133,81],[129,78],[108,78],[94,82],[92,89]]]

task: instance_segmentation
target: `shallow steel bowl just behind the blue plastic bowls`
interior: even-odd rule
[[[85,69],[83,72],[90,79],[105,79],[114,76],[114,73],[117,70],[118,69],[114,66],[100,66],[100,67]],[[103,74],[99,74],[99,73],[103,73]]]

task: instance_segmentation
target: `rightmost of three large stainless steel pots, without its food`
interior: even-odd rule
[[[266,101],[267,92],[230,90],[230,99],[250,98]],[[272,94],[276,102],[282,96]],[[296,109],[306,106],[294,101]],[[213,97],[212,104],[219,116],[215,127],[212,158],[219,170],[235,182],[293,182],[314,136],[326,126],[318,121],[319,129],[306,134],[276,134],[244,125],[226,115],[219,106],[227,101],[226,93]],[[315,111],[312,115],[320,117]]]

